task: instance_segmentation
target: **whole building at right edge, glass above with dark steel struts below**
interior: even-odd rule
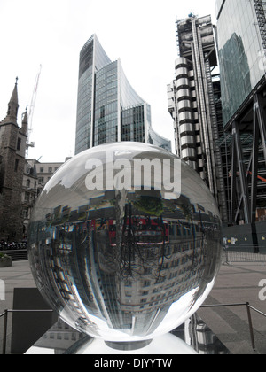
[[[256,222],[266,219],[266,1],[216,0],[216,9],[221,147],[227,152],[229,221],[237,225],[229,234],[240,244],[265,245],[265,223]]]

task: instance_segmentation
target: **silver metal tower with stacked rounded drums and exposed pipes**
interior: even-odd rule
[[[227,219],[223,167],[212,70],[217,66],[210,16],[176,22],[176,80],[168,85],[168,111],[174,119],[176,154],[207,182]]]

